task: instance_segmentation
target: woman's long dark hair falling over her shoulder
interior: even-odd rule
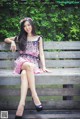
[[[35,33],[35,26],[33,24],[33,21],[31,18],[25,18],[23,19],[23,21],[21,22],[21,31],[20,34],[18,36],[18,45],[19,45],[19,49],[22,51],[25,51],[26,49],[26,45],[27,45],[27,32],[24,30],[24,23],[28,21],[30,23],[30,25],[32,26],[32,34],[36,35]]]

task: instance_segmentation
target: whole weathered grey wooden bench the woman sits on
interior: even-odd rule
[[[20,75],[13,74],[13,62],[18,52],[12,53],[9,49],[10,44],[0,43],[0,110],[11,112],[11,110],[16,111],[20,99]],[[32,110],[35,119],[64,117],[71,119],[72,116],[80,119],[78,112],[80,110],[80,42],[44,42],[44,53],[46,66],[52,70],[52,73],[35,76],[37,92],[43,102],[43,112],[46,116],[40,113],[42,116],[34,117],[36,113],[30,91],[25,110],[27,112]],[[67,112],[67,114],[65,112],[60,115],[61,112],[58,113],[58,110],[66,112],[77,110],[77,112]],[[26,115],[28,113],[24,118]],[[10,118],[12,119],[12,116]],[[31,114],[27,118],[31,118]]]

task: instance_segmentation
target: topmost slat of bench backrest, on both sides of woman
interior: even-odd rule
[[[9,50],[10,44],[0,43],[0,50]],[[67,49],[67,50],[80,50],[80,41],[48,41],[44,42],[44,49]]]

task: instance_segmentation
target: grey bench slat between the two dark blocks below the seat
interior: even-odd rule
[[[76,88],[37,88],[39,96],[80,96],[80,89]],[[4,95],[5,94],[5,95]],[[0,96],[19,96],[20,89],[0,89]],[[28,96],[31,92],[28,90]]]

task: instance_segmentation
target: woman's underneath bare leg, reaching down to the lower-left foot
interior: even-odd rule
[[[20,97],[20,102],[19,102],[18,109],[16,112],[16,115],[18,116],[22,116],[23,114],[27,90],[28,90],[28,80],[26,76],[26,70],[22,70],[21,72],[21,97]]]

